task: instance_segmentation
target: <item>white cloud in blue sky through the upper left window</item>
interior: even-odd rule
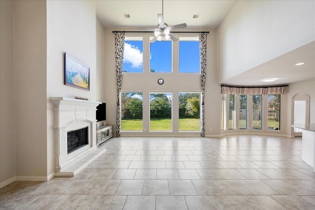
[[[137,46],[125,43],[124,62],[130,63],[131,68],[138,69],[142,67],[142,52]]]

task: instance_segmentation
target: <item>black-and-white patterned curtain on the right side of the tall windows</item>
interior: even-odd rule
[[[205,86],[207,71],[207,33],[199,34],[200,72],[201,72],[201,137],[205,137]]]

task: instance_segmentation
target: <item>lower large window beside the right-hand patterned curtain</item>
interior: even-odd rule
[[[200,93],[179,93],[179,130],[200,131]]]

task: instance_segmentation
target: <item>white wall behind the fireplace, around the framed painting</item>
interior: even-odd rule
[[[64,52],[90,67],[90,91],[64,85]],[[47,175],[54,173],[53,106],[50,97],[96,100],[95,1],[47,1]]]

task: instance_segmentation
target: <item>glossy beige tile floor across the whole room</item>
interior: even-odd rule
[[[315,210],[301,138],[112,138],[72,178],[15,181],[0,209]]]

